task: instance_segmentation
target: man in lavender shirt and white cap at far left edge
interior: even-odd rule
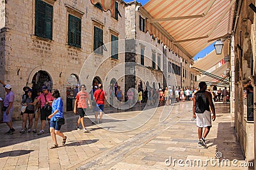
[[[13,102],[15,95],[12,92],[12,86],[9,84],[4,83],[2,80],[0,80],[0,83],[3,84],[4,90],[6,92],[6,96],[4,97],[4,106],[3,106],[3,122],[8,125],[10,128],[8,132],[5,132],[4,134],[13,134],[15,129],[12,126],[12,115],[13,115]]]

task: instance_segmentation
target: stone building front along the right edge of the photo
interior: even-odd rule
[[[248,162],[254,161],[256,146],[256,43],[255,43],[255,21],[256,11],[250,6],[255,6],[255,1],[239,1],[237,6],[237,17],[234,25],[234,36],[230,39],[232,82],[231,87],[234,101],[231,111],[234,115],[237,139]]]

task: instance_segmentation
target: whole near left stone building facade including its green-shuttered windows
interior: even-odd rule
[[[111,57],[111,40],[125,38],[125,3],[116,3],[119,14],[111,16],[90,0],[1,1],[0,77],[15,92],[14,119],[20,118],[26,85],[40,89],[46,82],[51,89],[59,89],[64,111],[67,102],[72,103],[70,89],[77,83],[84,83],[88,92],[99,81],[106,90],[111,80],[124,86],[113,74],[106,78],[109,68],[124,62],[123,53]],[[106,49],[93,52],[103,44]],[[4,97],[4,89],[0,95]]]

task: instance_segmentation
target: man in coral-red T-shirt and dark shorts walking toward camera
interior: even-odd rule
[[[85,111],[86,111],[86,108],[87,108],[86,101],[88,102],[90,108],[91,108],[91,104],[90,104],[90,100],[88,99],[88,93],[85,90],[86,90],[85,85],[81,85],[81,91],[78,92],[77,95],[76,95],[74,113],[77,114],[77,112],[78,112],[78,114],[79,114],[76,129],[78,131],[81,130],[79,128],[79,124],[81,122],[82,127],[84,129],[83,131],[88,132],[89,130],[84,127],[84,115],[85,115]]]

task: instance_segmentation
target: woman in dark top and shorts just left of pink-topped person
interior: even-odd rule
[[[22,117],[22,129],[20,130],[20,133],[24,134],[25,131],[25,126],[27,124],[27,120],[29,120],[29,125],[28,125],[28,132],[31,132],[31,128],[33,125],[33,117],[35,115],[35,106],[33,104],[29,104],[29,103],[33,103],[34,99],[33,99],[33,90],[29,89],[27,91],[27,95],[25,100],[23,101],[22,106],[26,106],[26,110],[23,113],[23,117]]]

